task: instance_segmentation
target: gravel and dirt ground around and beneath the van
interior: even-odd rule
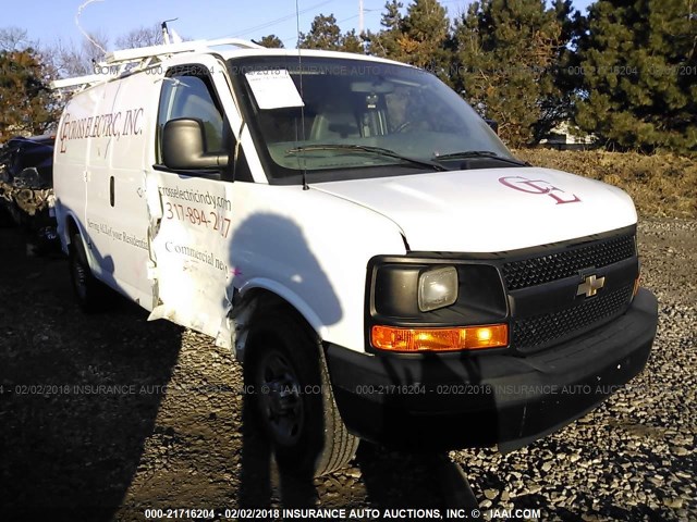
[[[65,261],[27,257],[19,232],[0,229],[0,520],[145,520],[151,507],[444,514],[466,502],[463,472],[486,519],[695,520],[696,237],[695,221],[640,224],[643,281],[660,301],[655,349],[576,423],[506,456],[363,445],[352,468],[301,481],[243,422],[228,350],[126,302],[84,315]]]

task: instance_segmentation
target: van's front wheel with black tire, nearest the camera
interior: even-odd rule
[[[245,348],[245,384],[281,469],[321,476],[353,459],[358,438],[346,431],[314,332],[276,309],[253,319]]]

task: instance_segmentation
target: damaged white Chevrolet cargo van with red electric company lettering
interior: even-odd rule
[[[58,86],[81,304],[109,287],[233,348],[281,460],[515,448],[647,361],[629,197],[516,160],[431,74],[224,40]]]

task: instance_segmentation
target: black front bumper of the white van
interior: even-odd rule
[[[527,357],[366,355],[327,347],[348,431],[425,449],[525,446],[583,417],[638,374],[656,336],[658,303],[640,289],[625,314]]]

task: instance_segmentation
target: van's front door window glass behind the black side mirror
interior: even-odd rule
[[[164,124],[178,117],[200,120],[206,135],[206,152],[222,152],[228,133],[210,79],[203,74],[175,74],[166,77],[163,82],[158,111],[158,163],[162,161],[161,136]]]

